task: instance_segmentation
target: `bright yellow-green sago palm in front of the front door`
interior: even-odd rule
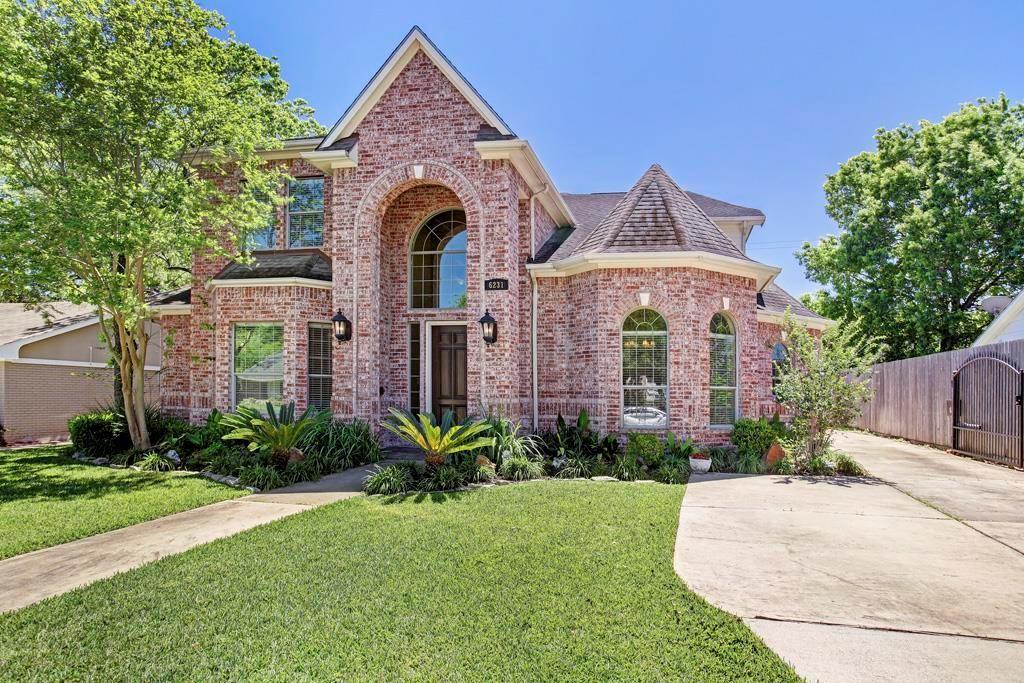
[[[494,444],[492,436],[482,436],[490,425],[484,420],[456,424],[451,412],[444,413],[437,424],[430,413],[418,416],[407,411],[390,409],[391,416],[381,423],[388,430],[410,445],[426,454],[427,465],[443,465],[450,456],[467,451],[488,449]]]

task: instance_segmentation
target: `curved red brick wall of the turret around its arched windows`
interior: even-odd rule
[[[712,316],[723,310],[737,333],[740,415],[764,414],[771,398],[770,327],[757,321],[751,280],[694,268],[592,270],[541,279],[539,360],[541,426],[581,408],[602,431],[621,431],[621,332],[626,316],[650,293],[649,307],[669,326],[669,421],[677,434],[725,442],[710,421]]]

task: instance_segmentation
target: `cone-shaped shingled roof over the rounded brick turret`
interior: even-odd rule
[[[624,252],[707,252],[749,259],[665,170],[654,164],[588,234],[553,258]]]

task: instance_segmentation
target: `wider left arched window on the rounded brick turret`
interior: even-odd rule
[[[623,427],[669,427],[669,326],[650,308],[623,323]]]

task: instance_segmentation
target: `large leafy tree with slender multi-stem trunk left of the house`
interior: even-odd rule
[[[265,225],[257,151],[318,128],[224,30],[191,0],[0,0],[0,291],[96,307],[142,447],[147,300]]]

